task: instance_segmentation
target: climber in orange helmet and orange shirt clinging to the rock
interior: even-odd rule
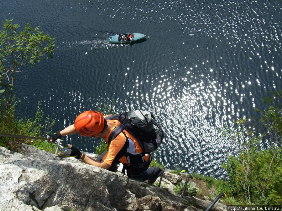
[[[116,119],[106,120],[104,117],[106,116],[97,111],[85,111],[76,117],[74,124],[60,132],[50,134],[51,139],[49,142],[55,141],[62,136],[78,133],[85,137],[104,138],[108,143],[110,134],[114,128],[118,127],[120,122]],[[137,139],[125,129],[110,142],[107,150],[97,159],[86,156],[86,154],[81,153],[70,144],[68,144],[68,147],[70,148],[69,151],[62,151],[58,153],[58,156],[76,157],[86,164],[113,172],[117,171],[117,164],[123,163],[123,173],[125,173],[126,169],[129,178],[148,180],[148,183],[154,183],[162,173],[162,169],[159,167],[149,168],[150,154],[143,155]]]

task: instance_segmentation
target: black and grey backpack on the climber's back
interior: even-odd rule
[[[162,143],[164,132],[148,111],[128,111],[118,115],[105,117],[106,120],[117,119],[120,125],[116,127],[108,138],[108,144],[123,130],[128,131],[141,145],[143,154],[153,152]]]

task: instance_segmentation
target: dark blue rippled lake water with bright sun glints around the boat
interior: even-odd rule
[[[237,147],[217,127],[256,115],[267,91],[281,89],[281,6],[277,0],[0,0],[1,22],[13,18],[56,38],[53,59],[17,76],[18,116],[34,117],[41,101],[55,131],[100,100],[115,112],[150,110],[165,131],[155,153],[162,164],[225,177],[221,164]],[[108,43],[128,32],[146,40]],[[63,139],[89,152],[99,142]]]

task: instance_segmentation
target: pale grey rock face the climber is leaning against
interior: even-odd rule
[[[164,180],[172,180],[169,174],[165,173]],[[75,158],[58,158],[28,145],[23,154],[0,147],[0,190],[0,210],[178,211],[206,210],[211,203],[193,197],[181,199],[167,188],[128,179]],[[219,203],[214,208],[226,210]]]

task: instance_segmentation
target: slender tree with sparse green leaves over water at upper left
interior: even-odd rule
[[[39,31],[39,27],[27,23],[19,30],[19,25],[12,21],[6,20],[0,31],[0,95],[7,110],[12,106],[15,74],[26,64],[33,66],[43,56],[50,58],[55,49],[55,38]]]

